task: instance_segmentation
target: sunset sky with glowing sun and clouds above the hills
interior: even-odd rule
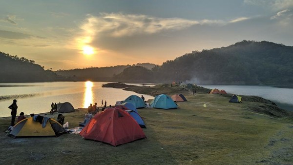
[[[53,71],[161,65],[243,40],[293,46],[293,0],[0,0],[0,52]]]

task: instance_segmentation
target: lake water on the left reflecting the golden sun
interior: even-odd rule
[[[17,99],[18,114],[44,113],[51,110],[51,103],[69,102],[75,109],[87,108],[90,103],[101,105],[102,99],[108,105],[123,101],[130,95],[141,97],[131,91],[116,88],[103,88],[107,82],[36,82],[0,83],[0,117],[11,116],[8,108]],[[139,84],[137,84],[139,85]],[[153,86],[153,84],[146,84]],[[153,99],[144,95],[145,100]]]

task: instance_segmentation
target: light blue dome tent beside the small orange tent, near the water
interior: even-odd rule
[[[161,94],[154,98],[151,101],[150,107],[152,108],[161,108],[161,109],[172,109],[177,108],[177,104],[171,99],[171,97]]]

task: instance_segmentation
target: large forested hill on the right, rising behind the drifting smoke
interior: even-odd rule
[[[128,68],[113,78],[129,77],[138,82],[190,81],[197,84],[265,84],[293,86],[293,46],[268,41],[241,41],[228,47],[193,51],[175,60],[145,70],[133,77]],[[127,75],[130,73],[131,75]]]

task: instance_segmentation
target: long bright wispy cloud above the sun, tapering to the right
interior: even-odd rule
[[[239,20],[241,21],[241,20]],[[101,38],[122,39],[158,34],[168,31],[180,31],[195,25],[224,25],[222,20],[187,20],[182,18],[157,18],[146,15],[122,13],[101,13],[99,16],[87,15],[80,29],[82,33],[76,39],[81,49],[92,41]],[[107,38],[107,39],[106,39]]]

